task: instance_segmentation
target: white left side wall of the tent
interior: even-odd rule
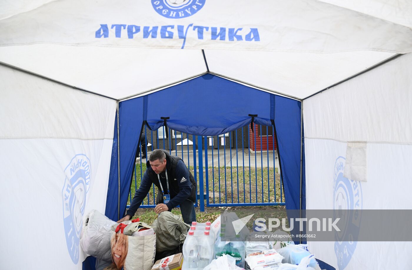
[[[114,100],[0,67],[4,268],[81,269],[82,216],[105,211]],[[47,268],[47,267],[46,267]]]

